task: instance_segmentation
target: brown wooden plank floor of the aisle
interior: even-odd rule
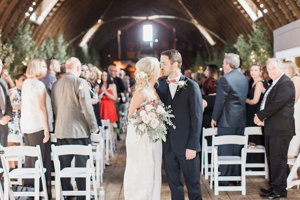
[[[112,166],[106,167],[103,175],[103,183],[105,187],[105,200],[122,200],[123,194],[123,174],[125,169],[126,150],[125,150],[125,134],[121,134],[121,140],[118,142],[117,150],[112,158]],[[220,191],[219,195],[213,194],[213,189],[209,188],[209,181],[200,177],[201,192],[203,199],[265,199],[259,197],[259,188],[268,187],[267,180],[263,176],[247,176],[246,178],[246,195],[241,195],[240,191]],[[185,199],[187,190],[184,186]],[[170,200],[170,190],[166,181],[164,170],[162,169],[162,188],[161,200]],[[286,199],[286,198],[284,198]],[[287,199],[300,199],[300,189],[288,189]]]

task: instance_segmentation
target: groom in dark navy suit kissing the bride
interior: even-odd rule
[[[175,49],[160,54],[160,69],[167,79],[159,82],[156,91],[165,105],[171,105],[176,125],[176,129],[168,127],[166,141],[162,142],[162,159],[172,200],[184,199],[181,169],[188,199],[198,200],[202,199],[198,156],[202,97],[198,84],[181,74],[181,64],[181,54]]]

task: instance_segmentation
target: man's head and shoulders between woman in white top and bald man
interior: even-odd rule
[[[48,94],[51,94],[51,89],[53,83],[57,80],[56,73],[60,72],[60,64],[59,61],[55,57],[51,57],[46,59],[47,63],[47,74],[45,77],[41,78],[47,89]]]

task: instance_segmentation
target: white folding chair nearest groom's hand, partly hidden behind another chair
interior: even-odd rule
[[[211,165],[208,164],[208,153],[211,153],[211,146],[207,145],[206,136],[217,135],[217,128],[204,128],[202,129],[202,151],[201,151],[201,174],[204,178],[208,179],[209,172],[208,168],[211,168]],[[217,148],[217,146],[216,146]],[[204,170],[203,170],[204,169]]]

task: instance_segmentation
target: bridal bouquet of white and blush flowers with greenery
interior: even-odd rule
[[[142,136],[146,133],[153,142],[159,139],[165,141],[166,124],[176,128],[170,119],[175,117],[171,112],[171,106],[164,106],[160,100],[146,101],[136,108],[128,123],[135,127],[137,135]]]

